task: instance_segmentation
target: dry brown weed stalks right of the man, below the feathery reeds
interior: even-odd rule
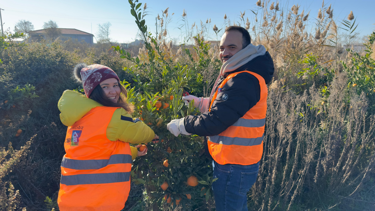
[[[339,74],[324,104],[315,86],[297,96],[270,90],[264,154],[251,196],[260,210],[291,210],[293,203],[329,208],[361,198],[374,173],[375,116],[366,113],[365,94],[346,87]]]

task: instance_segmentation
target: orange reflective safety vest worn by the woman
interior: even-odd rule
[[[117,107],[96,107],[66,133],[57,203],[61,211],[119,211],[130,191],[129,143],[107,139]]]

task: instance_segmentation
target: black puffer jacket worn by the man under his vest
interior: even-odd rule
[[[268,84],[272,80],[274,69],[271,55],[266,52],[263,56],[255,57],[233,72],[244,70],[255,72],[261,75]],[[224,77],[221,77],[217,86],[233,72],[228,72]],[[215,91],[217,86],[214,87]],[[222,99],[224,94],[228,95],[228,99],[225,101]],[[236,77],[226,82],[214,100],[210,112],[184,118],[185,129],[188,133],[198,136],[216,136],[225,131],[260,100],[259,81],[254,75],[246,72],[237,74]]]

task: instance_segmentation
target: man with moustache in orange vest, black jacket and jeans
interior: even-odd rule
[[[267,86],[273,77],[273,60],[263,45],[251,44],[249,32],[230,26],[220,41],[223,65],[210,98],[194,101],[200,116],[171,121],[172,134],[207,136],[205,150],[213,158],[216,210],[248,210],[247,196],[257,179],[263,153]]]

